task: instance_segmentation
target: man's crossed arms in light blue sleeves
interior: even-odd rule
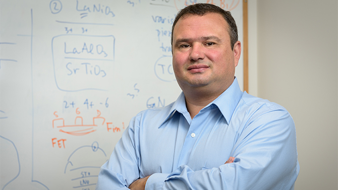
[[[164,163],[154,173],[143,167],[142,116],[136,116],[101,167],[96,189],[293,189],[299,173],[294,122],[285,110],[262,114],[239,129],[228,156],[234,160],[201,170],[183,164],[169,172]]]

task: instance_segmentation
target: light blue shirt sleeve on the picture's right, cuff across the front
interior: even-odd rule
[[[283,109],[257,111],[244,120],[233,163],[199,171],[182,165],[151,175],[145,189],[294,189],[299,164],[291,115]]]

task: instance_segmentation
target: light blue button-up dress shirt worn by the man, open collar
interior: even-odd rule
[[[233,163],[224,164],[229,157]],[[242,92],[237,79],[193,119],[183,93],[131,119],[96,189],[294,189],[296,130],[282,106]]]

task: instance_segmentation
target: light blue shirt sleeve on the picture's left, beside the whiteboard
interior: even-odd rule
[[[116,144],[110,159],[102,165],[98,174],[96,190],[129,189],[129,185],[140,176],[138,142],[139,128],[135,127],[135,117],[131,119],[122,138]]]

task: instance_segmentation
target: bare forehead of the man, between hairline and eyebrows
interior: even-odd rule
[[[174,28],[173,37],[182,35],[209,35],[208,33],[228,33],[229,25],[222,15],[207,13],[203,16],[186,15],[180,18]]]

